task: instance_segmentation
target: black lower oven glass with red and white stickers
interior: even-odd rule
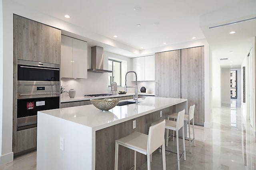
[[[60,108],[60,97],[18,99],[17,117],[37,115],[37,111]]]

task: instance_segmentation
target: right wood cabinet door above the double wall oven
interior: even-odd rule
[[[61,31],[42,24],[41,61],[60,64]]]

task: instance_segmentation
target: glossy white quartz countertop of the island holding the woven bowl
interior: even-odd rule
[[[39,111],[38,113],[40,114],[41,112],[61,119],[66,119],[74,123],[91,127],[92,130],[97,131],[186,101],[187,99],[147,97],[139,98],[138,105],[130,104],[115,106],[113,109],[105,112],[97,109],[91,104]]]

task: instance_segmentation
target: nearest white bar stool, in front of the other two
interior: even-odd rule
[[[148,170],[150,170],[150,156],[151,154],[162,147],[163,169],[166,170],[165,162],[165,146],[164,146],[164,127],[165,120],[160,123],[150,126],[148,135],[134,132],[126,137],[116,140],[116,153],[115,153],[115,170],[118,170],[118,146],[122,145],[129,149],[134,150],[134,170],[136,170],[136,152],[147,155]]]

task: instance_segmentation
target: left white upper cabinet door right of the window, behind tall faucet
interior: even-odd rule
[[[132,70],[137,73],[137,81],[144,81],[145,61],[144,57],[136,57],[132,59]],[[132,80],[135,81],[135,74],[132,76]]]

